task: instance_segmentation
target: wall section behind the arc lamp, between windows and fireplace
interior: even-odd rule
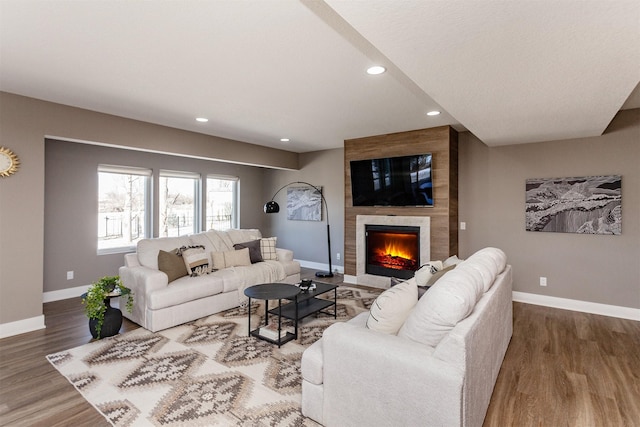
[[[344,271],[344,258],[337,259],[336,254],[344,256],[344,149],[304,153],[299,159],[300,170],[265,172],[265,199],[285,184],[292,181],[305,181],[322,187],[331,225],[331,259],[333,269]],[[291,249],[296,259],[310,261],[312,267],[328,268],[327,223],[323,210],[322,222],[291,221],[287,219],[287,190],[280,191],[276,197],[280,205],[277,214],[266,217],[263,234],[278,237],[278,246]]]

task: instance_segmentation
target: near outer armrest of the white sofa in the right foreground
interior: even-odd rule
[[[461,425],[464,372],[433,348],[350,323],[322,340],[325,425]]]

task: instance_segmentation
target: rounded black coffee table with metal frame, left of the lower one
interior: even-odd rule
[[[280,347],[282,344],[287,343],[291,340],[298,338],[298,320],[297,320],[297,311],[298,311],[298,294],[300,293],[300,289],[294,285],[287,285],[284,283],[265,283],[263,285],[255,285],[250,286],[244,290],[244,294],[249,297],[249,335],[259,338],[261,340],[265,340],[271,342],[273,344],[278,344]],[[260,327],[256,329],[251,329],[251,299],[261,299],[264,300],[264,318],[266,327],[269,324],[269,300],[278,300],[278,308],[271,310],[273,314],[278,315],[278,329],[277,329],[277,339],[270,338],[260,333]],[[292,304],[295,306],[296,316],[293,320],[294,324],[294,333],[286,332],[283,334],[282,331],[282,300],[287,299],[293,301]]]

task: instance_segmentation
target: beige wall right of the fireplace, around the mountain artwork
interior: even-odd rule
[[[488,148],[460,134],[460,252],[504,249],[514,290],[640,308],[640,109],[603,136]],[[525,180],[622,175],[622,235],[527,232]],[[548,286],[539,286],[540,276]]]

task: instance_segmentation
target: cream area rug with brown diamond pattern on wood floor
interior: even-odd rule
[[[333,297],[333,293],[329,293]],[[247,308],[152,333],[143,328],[47,356],[115,426],[316,426],[300,412],[300,358],[334,322],[369,309],[375,291],[338,288],[338,318],[299,323],[277,345],[247,336]],[[264,305],[252,303],[252,327]]]

